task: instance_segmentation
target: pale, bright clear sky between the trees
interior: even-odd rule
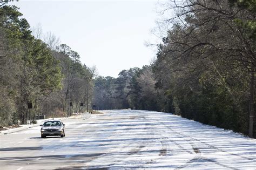
[[[161,39],[156,28],[159,0],[25,1],[20,8],[31,28],[40,24],[80,55],[86,66],[96,66],[99,76],[118,77],[132,67],[149,65]]]

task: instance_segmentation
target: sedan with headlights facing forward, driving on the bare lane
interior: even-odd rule
[[[61,138],[65,137],[65,124],[59,120],[48,120],[45,121],[41,128],[41,138],[46,138],[46,136],[57,136],[60,135]]]

